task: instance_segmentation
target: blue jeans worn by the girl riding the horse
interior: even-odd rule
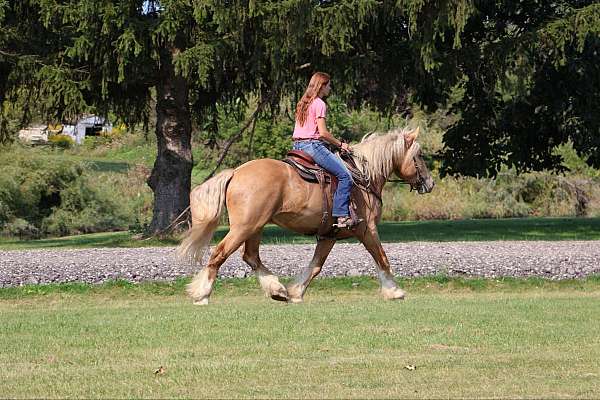
[[[338,178],[338,187],[333,195],[334,217],[350,215],[350,191],[352,190],[352,175],[340,157],[333,154],[320,140],[298,140],[294,142],[294,150],[302,150],[311,155],[317,164]]]

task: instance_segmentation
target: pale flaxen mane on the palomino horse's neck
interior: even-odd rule
[[[374,133],[352,145],[352,150],[359,161],[357,164],[371,180],[390,176],[394,170],[394,162],[404,159],[404,134],[410,129],[394,129],[387,133]],[[364,162],[366,161],[366,162]]]

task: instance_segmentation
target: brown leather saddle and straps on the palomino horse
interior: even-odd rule
[[[341,156],[342,160],[346,163],[346,166],[352,174],[352,179],[355,182],[363,182],[365,177],[356,167],[354,159],[350,155],[341,154]],[[317,165],[310,154],[301,150],[288,151],[287,157],[282,161],[294,167],[300,177],[305,181],[319,184],[321,187],[321,194],[323,195],[323,216],[321,217],[321,224],[317,230],[317,239],[335,238],[335,235],[339,229],[333,227],[333,218],[330,217],[330,215],[333,207],[333,194],[335,193],[338,184],[337,177],[321,168],[319,165]],[[356,215],[356,202],[354,201],[354,193],[350,194],[349,208],[350,218],[352,218],[352,222],[356,226],[361,220],[359,220],[358,216]]]

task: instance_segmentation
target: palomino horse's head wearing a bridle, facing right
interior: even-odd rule
[[[399,165],[395,168],[396,175],[408,182],[411,190],[415,189],[419,194],[431,192],[435,183],[421,155],[421,146],[416,140],[419,136],[419,128],[400,135],[404,135],[404,158],[398,160]]]

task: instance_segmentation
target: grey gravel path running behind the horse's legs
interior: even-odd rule
[[[295,275],[315,245],[265,245],[263,262],[277,275]],[[398,276],[540,276],[551,279],[600,274],[600,241],[386,243]],[[173,247],[138,249],[0,251],[0,287],[51,282],[100,283],[111,279],[172,280],[198,271],[178,263]],[[244,277],[250,268],[239,252],[221,267],[221,277]],[[338,243],[321,276],[375,275],[371,256],[359,244]]]

